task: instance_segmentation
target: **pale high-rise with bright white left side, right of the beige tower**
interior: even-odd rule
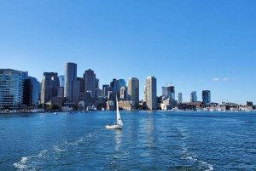
[[[156,78],[147,77],[144,83],[144,97],[146,107],[149,110],[157,109],[157,97],[156,97]]]

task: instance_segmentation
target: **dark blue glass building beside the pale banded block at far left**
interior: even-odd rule
[[[39,82],[35,77],[24,77],[22,105],[38,105]]]

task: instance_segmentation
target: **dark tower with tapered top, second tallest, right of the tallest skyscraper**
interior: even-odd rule
[[[84,71],[84,92],[91,92],[91,97],[96,98],[96,74],[92,70]]]

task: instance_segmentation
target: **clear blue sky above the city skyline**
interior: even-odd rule
[[[148,76],[176,96],[256,104],[256,1],[0,1],[0,68],[78,77],[95,71],[100,85]],[[176,97],[177,98],[177,97]]]

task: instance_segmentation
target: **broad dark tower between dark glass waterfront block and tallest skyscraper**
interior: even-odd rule
[[[41,85],[41,103],[47,103],[51,97],[58,95],[60,80],[56,72],[44,72]]]

